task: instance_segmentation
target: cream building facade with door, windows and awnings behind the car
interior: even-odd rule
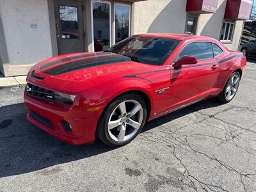
[[[0,0],[0,72],[25,75],[46,58],[138,33],[211,36],[236,51],[251,10],[250,0]]]

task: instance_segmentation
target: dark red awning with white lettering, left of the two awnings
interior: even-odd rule
[[[216,13],[218,0],[187,0],[186,12]]]

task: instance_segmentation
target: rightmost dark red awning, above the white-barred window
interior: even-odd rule
[[[250,0],[228,0],[224,19],[248,20],[252,11]]]

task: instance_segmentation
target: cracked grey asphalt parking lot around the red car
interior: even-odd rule
[[[229,104],[205,100],[148,122],[121,148],[40,131],[23,89],[0,90],[0,191],[256,191],[256,63]]]

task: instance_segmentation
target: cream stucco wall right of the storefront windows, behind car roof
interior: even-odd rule
[[[186,27],[186,0],[148,0],[134,3],[133,33],[184,33]],[[196,35],[220,40],[221,26],[227,0],[218,0],[216,13],[200,14]],[[234,21],[235,22],[235,21]],[[239,49],[243,21],[236,21],[233,41],[225,44],[230,50]]]

